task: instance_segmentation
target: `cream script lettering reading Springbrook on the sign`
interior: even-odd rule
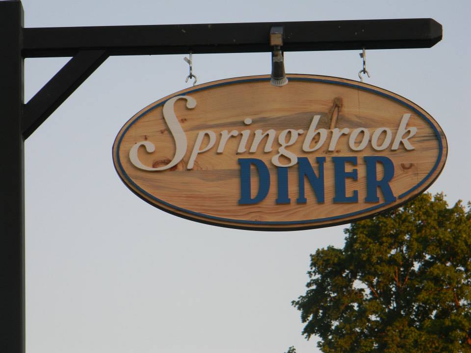
[[[143,164],[139,160],[138,151],[141,146],[143,146],[147,153],[153,153],[156,149],[155,145],[150,141],[141,141],[134,144],[130,151],[129,151],[129,158],[131,163],[141,170],[155,172],[155,171],[164,171],[173,166],[177,165],[185,156],[187,151],[187,137],[185,132],[183,131],[182,126],[180,125],[179,119],[175,114],[175,102],[184,99],[186,100],[186,107],[188,109],[193,109],[196,106],[196,100],[190,96],[177,96],[169,99],[163,105],[163,118],[168,126],[168,129],[173,136],[175,141],[175,155],[173,156],[170,163],[165,166],[160,166],[157,168],[153,168],[152,166],[147,166]],[[339,141],[342,135],[349,135],[345,138],[348,138],[348,146],[353,151],[363,151],[368,143],[370,143],[370,135],[371,135],[371,147],[375,151],[384,151],[391,146],[392,151],[396,151],[400,144],[404,146],[404,148],[408,151],[414,150],[414,146],[412,146],[410,139],[415,136],[417,133],[417,127],[415,126],[407,126],[411,114],[403,114],[399,126],[397,128],[397,132],[392,138],[392,130],[388,127],[377,127],[376,129],[368,130],[366,127],[358,127],[353,130],[350,130],[348,127],[344,128],[334,128],[332,130],[327,130],[325,128],[317,129],[317,125],[321,119],[321,115],[314,115],[309,126],[309,129],[306,132],[303,144],[302,144],[302,151],[304,152],[314,152],[320,150],[326,143],[328,143],[327,150],[328,151],[336,151],[337,146],[339,145]],[[244,125],[248,126],[252,124],[251,118],[245,118],[243,120]],[[327,137],[329,136],[329,132],[332,132],[332,136],[330,141],[327,141]],[[278,148],[278,153],[276,153],[272,158],[271,162],[277,167],[290,167],[297,163],[297,153],[294,151],[288,151],[288,146],[293,146],[296,144],[298,137],[304,133],[304,130],[295,130],[295,129],[285,129],[280,132],[278,135],[278,143],[280,147]],[[371,134],[372,133],[372,134]],[[263,131],[262,129],[257,129],[252,131],[250,129],[244,129],[242,131],[238,130],[222,130],[218,133],[212,130],[204,130],[199,131],[198,135],[196,136],[196,140],[191,151],[191,154],[188,159],[188,164],[186,168],[188,170],[193,169],[195,165],[195,161],[197,156],[200,153],[209,151],[212,149],[215,144],[216,140],[219,138],[219,143],[217,145],[217,154],[222,154],[225,152],[226,145],[229,143],[231,144],[230,140],[231,137],[236,138],[234,143],[237,144],[237,154],[242,153],[256,153],[259,152],[259,147],[261,147],[261,143],[263,139],[266,138],[263,153],[268,153],[273,151],[273,143],[276,138],[277,131],[275,129],[268,129]],[[240,137],[239,137],[240,136]],[[318,136],[318,139],[314,139]],[[358,137],[361,136],[361,141],[357,142]],[[205,146],[204,141],[205,138],[208,138],[208,143]],[[392,142],[393,141],[393,142]],[[345,141],[344,143],[346,143]],[[391,144],[392,142],[392,144]],[[344,146],[344,143],[342,145]],[[235,146],[232,148],[234,149]],[[247,151],[248,146],[250,146],[250,150]],[[294,146],[293,146],[294,149]],[[284,157],[280,159],[280,157]],[[285,160],[284,160],[285,159]]]

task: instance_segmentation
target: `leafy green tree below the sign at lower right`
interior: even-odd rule
[[[325,353],[471,352],[471,210],[443,194],[351,224],[292,304]]]

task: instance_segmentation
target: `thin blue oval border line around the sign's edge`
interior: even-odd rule
[[[438,142],[439,142],[439,153],[438,153],[438,157],[437,157],[437,160],[432,168],[432,170],[422,179],[420,180],[420,182],[418,184],[416,184],[414,187],[412,187],[411,189],[407,190],[406,192],[400,194],[398,196],[398,199],[403,199],[404,197],[406,197],[407,195],[409,195],[410,193],[412,193],[413,191],[417,190],[420,185],[422,185],[423,183],[425,183],[425,181],[433,175],[433,173],[435,173],[435,171],[437,170],[437,168],[439,167],[440,165],[440,161],[442,160],[442,155],[443,155],[443,143],[442,143],[442,138],[440,136],[440,132],[438,131],[437,127],[430,121],[430,119],[428,119],[424,114],[422,114],[418,109],[416,109],[414,106],[410,105],[409,103],[405,102],[405,101],[401,101],[400,99],[396,98],[396,97],[393,97],[387,93],[384,93],[384,92],[380,92],[380,91],[377,91],[373,88],[369,88],[369,87],[365,87],[365,86],[360,86],[360,85],[357,85],[357,84],[354,84],[354,83],[348,83],[348,82],[341,82],[341,81],[336,81],[336,80],[329,80],[329,79],[323,79],[323,78],[314,78],[314,77],[293,77],[293,76],[288,76],[289,80],[290,81],[310,81],[310,82],[323,82],[323,83],[329,83],[329,84],[336,84],[336,85],[341,85],[341,86],[347,86],[347,87],[353,87],[353,88],[356,88],[356,89],[360,89],[360,90],[363,90],[363,91],[366,91],[366,92],[370,92],[370,93],[374,93],[374,94],[377,94],[379,96],[383,96],[385,98],[388,98],[388,99],[391,99],[393,101],[396,101],[404,106],[406,106],[407,108],[411,109],[412,111],[414,111],[417,115],[419,115],[423,120],[425,120],[433,129],[433,131],[435,132],[435,135],[437,136],[437,139],[438,139]],[[258,77],[258,78],[248,78],[248,79],[244,79],[244,78],[241,78],[241,79],[238,79],[238,80],[234,80],[234,81],[227,81],[227,82],[220,82],[220,83],[215,83],[215,84],[212,84],[212,85],[209,85],[209,86],[205,86],[205,87],[201,87],[201,88],[195,88],[193,90],[189,90],[185,93],[182,93],[180,95],[187,95],[187,94],[191,94],[191,93],[194,93],[194,92],[198,92],[198,91],[202,91],[202,90],[206,90],[206,89],[210,89],[210,88],[215,88],[215,87],[221,87],[221,86],[225,86],[225,85],[229,85],[229,84],[237,84],[237,83],[244,83],[244,82],[261,82],[261,81],[269,81],[270,80],[270,77]],[[116,161],[118,163],[118,167],[119,169],[121,170],[121,172],[123,173],[123,175],[125,176],[125,178],[127,179],[129,185],[132,185],[135,189],[139,190],[139,192],[141,192],[143,195],[146,195],[147,197],[149,197],[151,200],[154,200],[160,204],[163,204],[163,205],[166,205],[167,207],[170,207],[171,209],[174,209],[176,211],[182,211],[182,212],[186,212],[187,214],[190,214],[190,215],[195,215],[195,216],[198,216],[198,217],[203,217],[203,218],[206,218],[208,220],[214,220],[214,221],[220,221],[220,222],[230,222],[230,223],[236,223],[236,224],[241,224],[241,225],[267,225],[267,226],[270,226],[270,225],[273,225],[273,226],[276,226],[276,225],[279,225],[279,226],[284,226],[284,225],[305,225],[305,224],[310,224],[310,223],[320,223],[320,222],[327,222],[327,221],[340,221],[342,218],[349,218],[349,217],[353,217],[353,216],[358,216],[358,215],[361,215],[363,213],[367,213],[367,212],[370,212],[370,211],[374,211],[375,209],[379,209],[379,208],[382,208],[388,204],[391,204],[393,203],[394,201],[392,202],[383,202],[381,204],[378,204],[378,205],[375,205],[375,206],[371,206],[371,207],[368,207],[368,208],[365,208],[365,209],[362,209],[360,211],[356,211],[356,212],[351,212],[351,213],[345,213],[345,214],[342,214],[342,215],[339,215],[339,216],[333,216],[333,217],[324,217],[324,218],[316,218],[316,219],[311,219],[311,220],[300,220],[300,221],[246,221],[246,220],[236,220],[236,219],[232,219],[232,218],[222,218],[222,217],[216,217],[216,216],[211,216],[211,215],[207,215],[207,214],[204,214],[204,213],[198,213],[198,212],[195,212],[195,211],[191,211],[191,210],[187,210],[185,208],[182,208],[182,207],[178,207],[172,203],[168,203],[168,202],[165,202],[163,200],[160,200],[158,198],[156,198],[154,195],[151,195],[149,194],[147,191],[145,191],[144,189],[142,189],[141,187],[139,187],[136,183],[134,183],[134,181],[128,176],[128,174],[125,172],[122,164],[121,164],[121,160],[119,158],[119,150],[120,150],[120,146],[121,146],[121,141],[123,140],[123,137],[124,135],[126,135],[126,133],[128,132],[129,128],[135,123],[137,122],[141,117],[143,117],[144,115],[146,115],[147,113],[149,113],[150,111],[156,109],[157,107],[165,104],[166,101],[168,101],[169,99],[175,97],[175,95],[169,97],[168,99],[166,99],[165,101],[161,101],[160,103],[152,106],[151,108],[145,110],[144,112],[142,112],[137,118],[135,118],[131,124],[129,124],[129,126],[126,127],[126,129],[122,132],[119,140],[118,140],[118,144],[116,146]],[[224,225],[224,224],[221,224],[221,225]],[[289,230],[289,229],[287,229]]]

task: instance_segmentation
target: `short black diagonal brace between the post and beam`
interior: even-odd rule
[[[106,50],[79,51],[23,107],[22,131],[26,139],[108,57]]]

